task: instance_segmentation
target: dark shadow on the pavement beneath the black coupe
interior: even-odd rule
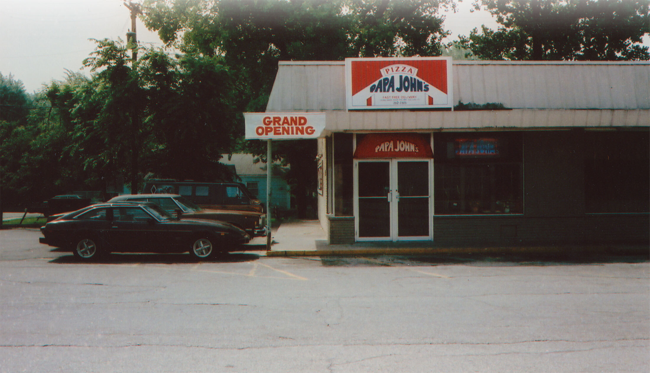
[[[52,252],[65,252],[55,248]],[[118,254],[111,253],[104,258],[95,261],[86,261],[79,259],[76,256],[65,255],[59,258],[52,259],[49,263],[57,264],[70,264],[70,263],[86,263],[86,264],[177,264],[177,263],[238,263],[244,261],[253,261],[259,259],[258,254],[233,252],[228,254],[218,254],[213,258],[205,260],[196,260],[190,254]]]

